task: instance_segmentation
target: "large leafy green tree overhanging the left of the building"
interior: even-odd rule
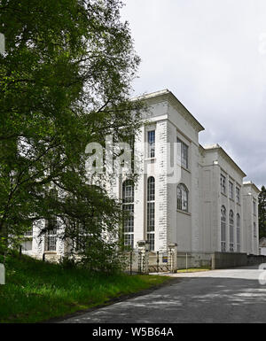
[[[84,151],[107,135],[129,141],[139,127],[141,104],[129,101],[139,58],[121,5],[2,0],[0,236],[54,216],[67,222],[65,238],[82,224],[90,247],[103,229],[115,233],[120,206],[88,183]]]

